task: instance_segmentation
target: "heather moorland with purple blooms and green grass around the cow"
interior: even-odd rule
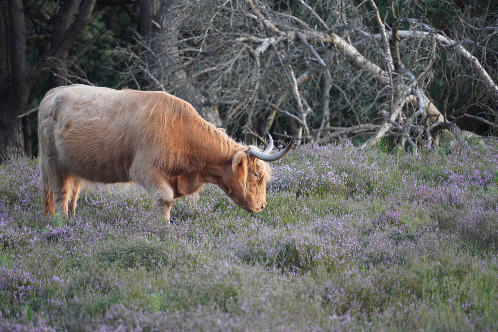
[[[272,163],[267,209],[206,185],[158,223],[94,185],[44,217],[36,159],[0,166],[0,330],[498,329],[498,144],[348,144]]]

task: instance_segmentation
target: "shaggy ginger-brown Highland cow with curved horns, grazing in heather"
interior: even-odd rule
[[[142,185],[169,222],[173,199],[218,185],[249,212],[265,208],[270,167],[282,158],[230,139],[187,102],[164,92],[81,84],[50,90],[38,116],[42,204],[74,215],[83,179]],[[54,206],[55,196],[55,206]],[[68,211],[69,210],[69,211]]]

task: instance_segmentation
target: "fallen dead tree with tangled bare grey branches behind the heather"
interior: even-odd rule
[[[490,70],[498,24],[485,26],[488,17],[465,21],[468,10],[452,8],[450,38],[420,20],[398,18],[400,8],[392,8],[388,24],[374,0],[318,0],[313,7],[303,0],[292,7],[177,1],[169,10],[181,13],[180,24],[160,26],[156,37],[127,49],[123,77],[173,94],[195,91],[246,139],[271,130],[301,144],[346,136],[369,147],[389,138],[416,153],[437,144],[442,128],[478,121],[490,135],[498,127],[497,77]]]

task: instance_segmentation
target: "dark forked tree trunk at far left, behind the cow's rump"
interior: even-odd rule
[[[24,153],[22,121],[18,115],[26,110],[31,87],[51,58],[67,59],[67,50],[88,24],[95,1],[64,1],[54,19],[50,52],[32,64],[26,60],[22,0],[0,1],[0,161],[8,158],[9,147]],[[56,86],[60,82],[53,79],[51,84]]]

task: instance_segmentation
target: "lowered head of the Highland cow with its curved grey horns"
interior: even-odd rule
[[[265,162],[273,162],[284,157],[291,150],[294,138],[280,152],[270,154],[273,139],[270,136],[268,148],[261,152],[255,147],[247,147],[237,152],[233,158],[231,169],[227,169],[218,185],[238,206],[248,212],[259,212],[266,206],[266,182],[270,180],[270,166]]]

